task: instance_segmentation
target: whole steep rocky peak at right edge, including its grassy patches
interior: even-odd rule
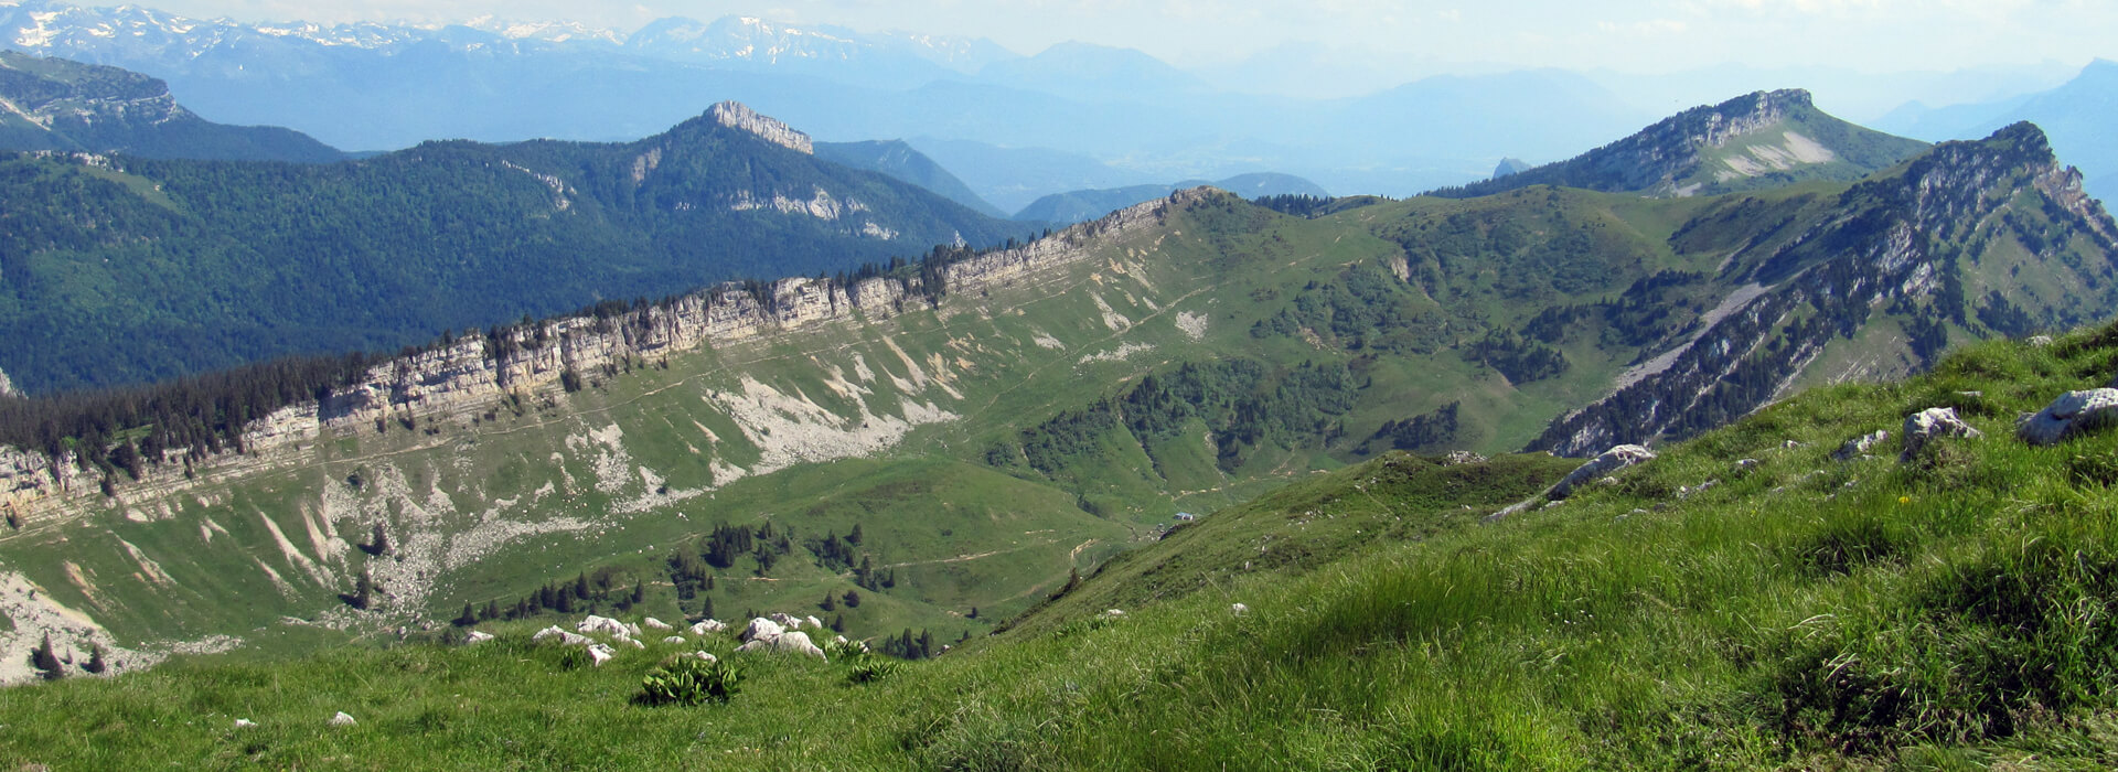
[[[2118,224],[2027,123],[1936,146],[1781,231],[1735,243],[1720,275],[1741,290],[1531,448],[1682,438],[1800,383],[1900,374],[1953,338],[2065,328],[2118,302]]]

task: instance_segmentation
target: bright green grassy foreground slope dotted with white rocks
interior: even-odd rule
[[[4,690],[0,768],[2110,768],[2118,429],[2031,448],[2012,423],[2114,372],[2118,328],[1982,345],[1493,525],[1375,484],[1411,463],[1381,459],[1207,516],[1144,548],[1182,537],[1195,558],[1114,560],[1082,601],[875,683],[733,656],[731,702],[644,706],[676,647],[587,668],[502,628]],[[1929,406],[1985,438],[1830,459]],[[1334,514],[1375,512],[1351,503],[1370,491],[1411,525],[1313,535],[1366,531]],[[1258,558],[1298,533],[1339,552]],[[1127,590],[1144,577],[1165,590]],[[1139,605],[1084,613],[1103,596]]]

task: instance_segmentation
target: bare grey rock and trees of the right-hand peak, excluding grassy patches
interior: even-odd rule
[[[2038,201],[2040,226],[2118,241],[2118,224],[2082,190],[2080,171],[2059,165],[2038,127],[2018,123],[1980,142],[1944,142],[1902,171],[1851,186],[1832,218],[1737,250],[1726,269],[1737,290],[1699,317],[1688,341],[1620,376],[1612,396],[1552,421],[1529,448],[1586,455],[1616,442],[1688,438],[1783,396],[1826,360],[1828,347],[1841,345],[1843,332],[1864,328],[1891,305],[1942,315],[1963,311],[1949,302],[1976,305],[1951,300],[1944,279],[1970,273],[1978,250],[1991,250],[1972,233],[2023,218],[2008,203],[2016,197]],[[2040,252],[2040,264],[2063,283],[2086,288],[2101,279],[2071,273],[2067,260],[2103,271],[2110,254],[2052,245]],[[2008,302],[2044,302],[2023,309],[2029,315],[2101,315],[2110,302],[2099,292]],[[1781,330],[1783,319],[1800,315],[1828,321]],[[1917,366],[1879,364],[1868,376]]]

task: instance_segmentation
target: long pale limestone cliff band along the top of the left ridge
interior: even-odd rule
[[[976,294],[1015,281],[1031,281],[1044,271],[1089,260],[1093,245],[1150,228],[1169,212],[1207,197],[1209,188],[1184,190],[1142,203],[1097,222],[1084,222],[1015,250],[987,252],[949,264],[940,273],[949,294]],[[354,385],[333,389],[320,402],[294,404],[256,419],[244,434],[244,453],[193,459],[197,476],[186,476],[182,451],[150,465],[142,482],[157,495],[189,491],[214,474],[265,470],[275,451],[313,446],[328,436],[347,436],[377,419],[468,417],[506,393],[561,391],[563,374],[595,372],[631,360],[657,360],[699,347],[773,341],[818,326],[858,326],[890,319],[909,302],[923,302],[919,277],[875,277],[854,283],[792,277],[760,292],[724,283],[667,302],[635,307],[616,315],[574,315],[498,330],[498,336],[466,336],[369,368]],[[23,520],[68,514],[70,499],[100,497],[95,478],[80,472],[72,453],[0,446],[0,508]]]

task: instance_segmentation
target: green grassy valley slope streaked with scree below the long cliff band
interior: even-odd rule
[[[0,565],[89,611],[125,643],[233,632],[261,645],[284,637],[286,628],[275,626],[282,618],[318,618],[337,605],[335,594],[352,588],[364,563],[354,541],[373,522],[415,541],[457,537],[493,518],[546,531],[513,535],[506,550],[474,560],[449,563],[449,550],[436,554],[445,565],[434,592],[407,596],[392,609],[436,620],[453,618],[464,603],[508,605],[542,582],[597,567],[621,571],[627,584],[646,582],[650,613],[697,613],[697,605],[680,607],[657,582],[667,582],[663,560],[716,522],[773,520],[794,527],[796,537],[843,535],[862,522],[881,529],[870,546],[879,563],[913,567],[904,571],[909,584],[892,594],[902,605],[851,615],[856,635],[904,626],[981,632],[989,622],[966,620],[970,607],[989,611],[981,618],[1025,609],[1070,569],[1097,565],[1171,522],[1175,512],[1211,512],[1360,461],[1353,448],[1385,421],[1459,400],[1461,446],[1514,448],[1550,417],[1601,396],[1627,364],[1658,353],[1614,345],[1595,326],[1576,328],[1559,343],[1572,362],[1565,374],[1510,383],[1447,347],[1351,351],[1343,341],[1250,332],[1292,309],[1309,288],[1343,281],[1349,271],[1389,271],[1389,260],[1404,256],[1413,281],[1392,290],[1392,302],[1408,315],[1447,315],[1444,334],[1453,343],[1476,341],[1487,328],[1523,326],[1546,305],[1614,298],[1661,269],[1711,275],[1752,233],[1785,218],[1824,216],[1841,190],[1809,182],[1754,197],[1650,201],[1533,188],[1470,201],[1377,203],[1317,220],[1220,201],[1178,212],[1167,226],[1131,241],[1103,243],[1091,260],[1046,283],[951,296],[938,311],[879,326],[809,330],[678,355],[667,366],[640,364],[616,376],[591,374],[595,385],[587,391],[496,404],[491,419],[424,423],[413,431],[390,423],[381,434],[362,427],[303,451],[299,467],[189,495],[127,491],[123,506],[74,525],[0,533]],[[1444,237],[1449,228],[1459,237]],[[1516,237],[1504,239],[1506,228]],[[1773,233],[1758,252],[1796,231]],[[1552,264],[1538,262],[1536,239],[1565,233],[1591,239],[1593,252],[1567,252],[1567,260],[1591,262],[1593,271],[1569,266],[1576,275],[1565,292],[1525,283],[1523,277],[1555,275]],[[2076,247],[2093,247],[2082,235],[2074,239]],[[2057,288],[2014,290],[2010,281],[2016,266],[2033,277],[2057,271],[2059,262],[2029,256],[2008,233],[1980,243],[1985,250],[1966,260],[1968,294],[2010,288],[2023,307],[2044,313],[2031,292],[2052,298]],[[1656,300],[1673,309],[1667,332],[1680,334],[1722,292],[1718,283],[1694,283]],[[1203,321],[1203,334],[1195,338],[1180,328],[1186,317]],[[1910,353],[1896,330],[1885,319],[1857,338],[1834,341],[1811,379],[1904,366]],[[1228,357],[1275,366],[1351,362],[1366,385],[1339,419],[1343,434],[1330,446],[1267,446],[1237,470],[1214,463],[1209,434],[1199,423],[1146,448],[1120,427],[1101,438],[1106,453],[1093,463],[1055,478],[1027,470],[1002,474],[981,463],[989,446],[1059,410],[1118,396],[1144,374],[1182,362]],[[864,370],[873,376],[860,376]],[[767,442],[746,436],[729,400],[714,402],[741,393],[743,379],[807,400],[824,410],[820,421],[841,427],[854,427],[860,408],[896,419],[907,404],[932,404],[957,421],[915,427],[870,461],[796,465],[726,484],[729,467],[756,467]],[[841,393],[847,385],[866,393]],[[612,427],[623,434],[616,440],[623,453],[591,440]],[[610,459],[616,474],[599,476],[599,463]],[[716,491],[659,501],[642,470],[678,493]],[[377,482],[343,486],[354,474]],[[892,480],[907,474],[930,482],[917,495],[890,495],[898,491]],[[815,491],[843,491],[841,503],[818,506]],[[640,512],[614,514],[642,501]],[[267,520],[322,569],[309,571],[282,550]],[[930,522],[962,527],[926,529]],[[943,529],[949,533],[940,535]],[[152,580],[119,539],[172,582]],[[381,573],[421,569],[379,567]],[[752,582],[752,569],[754,563],[739,560],[726,571],[741,582],[716,596],[716,611],[801,609],[824,590],[849,588],[847,577],[807,560],[786,560],[775,575],[756,577],[775,582]],[[93,599],[72,580],[76,573],[95,586]]]

